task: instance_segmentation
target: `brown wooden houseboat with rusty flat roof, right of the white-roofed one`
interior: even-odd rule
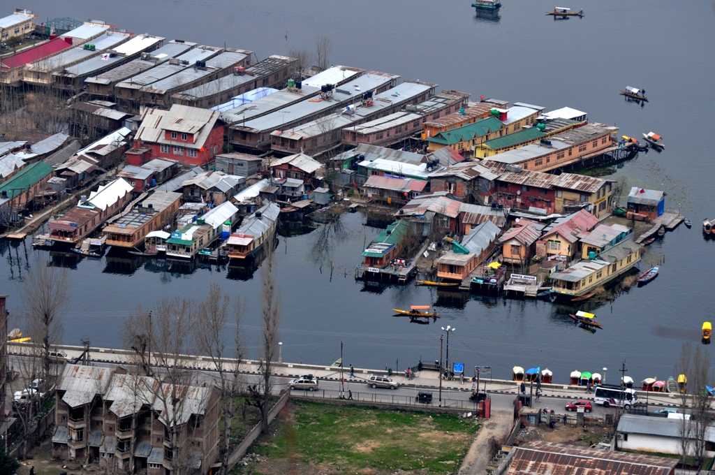
[[[162,230],[174,220],[181,205],[181,193],[157,191],[134,209],[104,227],[107,244],[117,248],[137,248],[147,235]]]

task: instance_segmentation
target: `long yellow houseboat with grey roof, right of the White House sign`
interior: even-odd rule
[[[605,248],[592,260],[581,260],[566,270],[553,273],[554,295],[578,298],[631,270],[641,260],[643,246],[630,238]]]

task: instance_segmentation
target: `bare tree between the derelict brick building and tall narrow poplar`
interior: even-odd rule
[[[221,474],[226,474],[230,456],[231,423],[235,415],[235,396],[240,390],[240,364],[244,357],[245,344],[241,333],[242,319],[246,313],[246,302],[240,296],[234,304],[236,333],[234,347],[226,348],[226,333],[229,326],[231,298],[218,284],[211,284],[209,295],[199,306],[196,332],[197,348],[209,356],[217,371],[218,388],[223,404],[224,434],[222,444]],[[228,361],[227,353],[233,350],[235,361]]]

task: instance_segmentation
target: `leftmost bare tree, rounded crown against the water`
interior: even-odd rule
[[[32,346],[39,349],[45,380],[52,365],[50,349],[62,338],[61,318],[69,309],[69,291],[67,270],[49,265],[44,256],[38,258],[22,289],[27,333]]]

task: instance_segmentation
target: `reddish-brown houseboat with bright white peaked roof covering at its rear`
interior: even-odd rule
[[[132,198],[132,185],[123,178],[117,178],[97,191],[82,195],[77,206],[47,224],[48,239],[54,243],[81,245],[103,222],[122,210]]]

